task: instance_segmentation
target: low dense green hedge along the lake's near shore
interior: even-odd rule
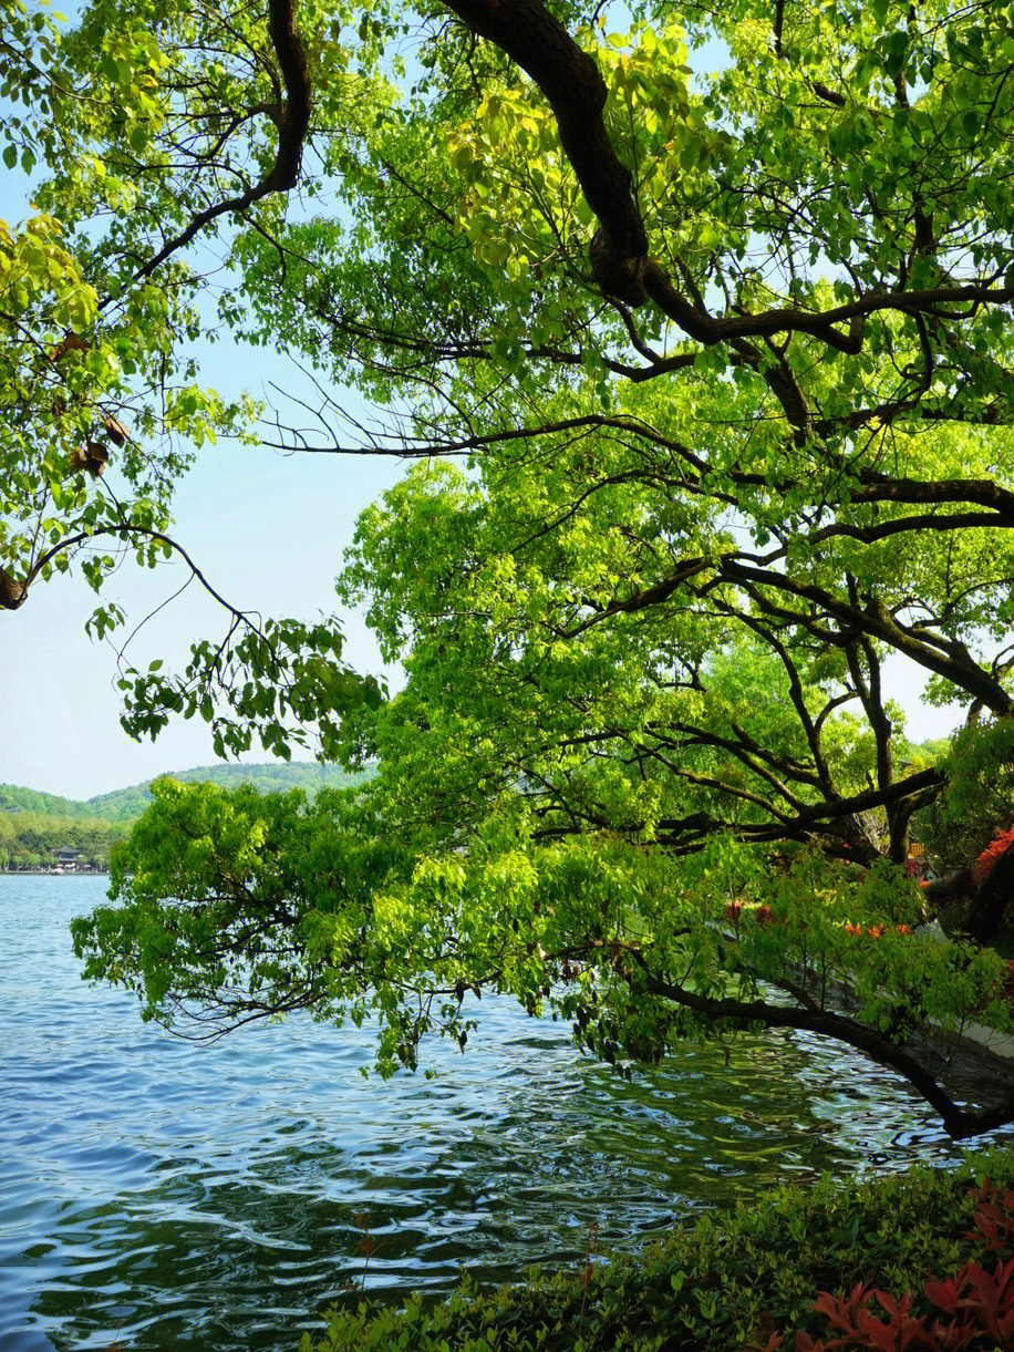
[[[488,1295],[465,1283],[433,1307],[412,1297],[402,1310],[335,1309],[303,1352],[730,1352],[764,1344],[775,1326],[815,1333],[819,1291],[860,1279],[921,1290],[926,1274],[979,1255],[965,1232],[969,1190],[986,1178],[1014,1186],[1014,1151],[968,1156],[957,1169],[781,1188],[591,1271],[533,1270]]]

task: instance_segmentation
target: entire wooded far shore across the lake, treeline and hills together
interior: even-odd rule
[[[304,788],[341,788],[357,783],[335,765],[316,763],[269,765],[201,765],[173,772],[173,779],[199,780],[234,788],[253,784],[262,794]],[[80,863],[105,868],[110,849],[130,830],[151,802],[150,780],[115,794],[100,794],[87,802],[41,794],[32,788],[0,784],[0,869],[50,868],[54,852],[62,846],[81,852]]]

